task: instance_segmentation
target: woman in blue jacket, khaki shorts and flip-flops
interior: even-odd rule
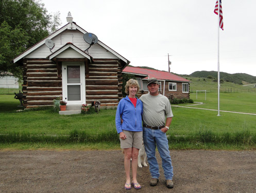
[[[140,189],[138,183],[137,167],[138,154],[142,148],[142,101],[135,95],[139,92],[138,81],[130,79],[126,82],[125,92],[128,94],[121,99],[116,110],[115,125],[120,136],[121,148],[124,149],[124,166],[126,172],[125,189],[131,189],[131,184],[135,189]],[[121,124],[121,117],[123,123]],[[132,169],[132,181],[130,179],[130,159]]]

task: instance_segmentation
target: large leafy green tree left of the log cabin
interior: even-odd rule
[[[40,0],[0,0],[0,72],[21,75],[11,60],[55,31],[59,15],[47,14]]]

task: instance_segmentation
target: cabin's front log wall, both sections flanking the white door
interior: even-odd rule
[[[61,62],[25,59],[23,67],[23,106],[53,106],[53,100],[62,95]],[[101,106],[117,106],[122,99],[121,67],[118,59],[95,59],[89,64],[86,69],[88,104],[99,100]]]

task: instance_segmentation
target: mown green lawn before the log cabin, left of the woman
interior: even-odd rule
[[[106,128],[115,128],[115,110],[100,111],[100,114],[65,116],[52,109],[16,112],[21,109],[17,107],[19,103],[19,100],[10,95],[0,95],[0,133],[69,134],[71,130],[100,132]]]

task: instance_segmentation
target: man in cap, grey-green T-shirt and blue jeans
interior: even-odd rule
[[[142,95],[140,100],[143,102],[143,141],[151,173],[150,185],[156,186],[160,176],[156,159],[157,146],[162,159],[166,186],[173,188],[173,166],[166,136],[172,122],[172,109],[167,97],[159,94],[159,83],[156,78],[149,78],[147,87],[149,93]]]

